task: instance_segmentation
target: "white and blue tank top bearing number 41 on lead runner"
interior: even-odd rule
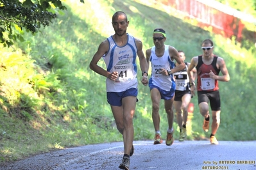
[[[107,66],[107,71],[118,72],[115,81],[106,79],[107,92],[122,92],[126,89],[137,88],[137,47],[132,35],[128,35],[126,45],[119,47],[112,36],[108,37],[109,49],[103,59]]]

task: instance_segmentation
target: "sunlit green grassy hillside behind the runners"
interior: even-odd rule
[[[214,41],[214,53],[225,59],[230,82],[220,82],[221,125],[218,140],[255,140],[256,83],[253,63],[255,47],[214,35],[210,28],[196,27],[173,10],[143,1],[65,1],[65,15],[36,35],[24,33],[25,42],[1,49],[0,67],[0,163],[65,147],[122,141],[107,104],[105,78],[89,69],[89,62],[107,36],[114,34],[112,15],[123,10],[130,24],[128,33],[143,42],[145,51],[153,45],[156,27],[167,31],[166,44],[185,51],[187,61],[201,54],[201,42]],[[87,9],[87,10],[85,10]],[[250,48],[248,48],[248,44]],[[105,67],[101,60],[99,65]],[[139,69],[139,80],[141,79]],[[149,88],[139,84],[133,124],[135,140],[152,140]],[[203,132],[203,117],[197,97],[188,139],[209,137]],[[167,129],[164,103],[160,105],[160,130]],[[175,137],[178,137],[175,120]]]

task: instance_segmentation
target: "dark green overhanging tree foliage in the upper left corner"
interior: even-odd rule
[[[83,3],[83,0],[80,0]],[[13,44],[22,35],[13,31],[13,26],[35,33],[57,17],[57,10],[66,10],[60,0],[0,0],[0,43],[4,47]]]

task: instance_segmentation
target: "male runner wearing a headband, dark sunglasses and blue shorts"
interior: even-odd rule
[[[152,120],[155,128],[155,139],[153,144],[162,143],[160,133],[160,100],[164,100],[164,107],[167,113],[168,128],[166,135],[166,145],[173,144],[173,100],[175,95],[175,81],[173,73],[185,68],[183,60],[178,51],[169,45],[165,45],[166,31],[157,28],[153,31],[153,43],[155,46],[146,50],[146,60],[151,62],[151,77],[149,79],[149,89],[152,102]],[[175,67],[175,61],[177,66]]]

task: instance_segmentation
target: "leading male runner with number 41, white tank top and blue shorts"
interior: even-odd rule
[[[90,61],[90,69],[107,77],[108,104],[110,104],[117,130],[123,135],[124,155],[119,164],[120,169],[129,169],[130,157],[134,151],[133,116],[138,95],[137,65],[135,63],[137,56],[142,71],[141,82],[144,86],[148,84],[148,63],[142,51],[142,42],[126,33],[128,25],[126,13],[115,12],[112,16],[112,27],[115,34],[101,42]],[[98,65],[101,58],[104,59],[107,70]],[[96,105],[96,107],[101,107],[101,105]]]

